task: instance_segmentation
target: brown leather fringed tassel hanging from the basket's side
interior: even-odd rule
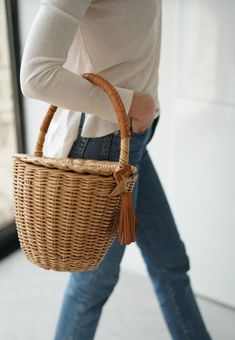
[[[117,223],[120,244],[130,244],[135,241],[136,226],[137,218],[132,204],[132,193],[124,192]]]

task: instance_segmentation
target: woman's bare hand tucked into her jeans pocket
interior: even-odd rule
[[[128,112],[130,126],[133,132],[147,130],[154,121],[157,112],[156,104],[149,94],[135,91]]]

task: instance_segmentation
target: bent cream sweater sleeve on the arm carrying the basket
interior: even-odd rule
[[[92,0],[41,0],[24,47],[20,86],[24,96],[117,123],[108,96],[63,67],[82,16]],[[134,91],[115,86],[128,113]]]

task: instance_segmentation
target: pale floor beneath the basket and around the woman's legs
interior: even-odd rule
[[[0,261],[0,340],[52,340],[68,277],[31,264],[21,250]],[[197,299],[213,339],[235,339],[235,311]],[[95,340],[170,340],[147,278],[121,270]]]

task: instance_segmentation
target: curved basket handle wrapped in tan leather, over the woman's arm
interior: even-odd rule
[[[104,79],[102,76],[95,73],[83,73],[82,77],[89,80],[94,85],[99,86],[109,96],[112,102],[113,108],[117,114],[121,135],[119,163],[121,166],[124,166],[129,163],[129,142],[131,132],[127,119],[127,114],[123,102],[121,100],[121,97],[117,90],[115,89],[115,87],[109,81]],[[57,106],[51,104],[46,113],[46,116],[43,119],[34,149],[34,156],[36,157],[43,156],[43,145],[45,141],[45,136],[56,110]]]

